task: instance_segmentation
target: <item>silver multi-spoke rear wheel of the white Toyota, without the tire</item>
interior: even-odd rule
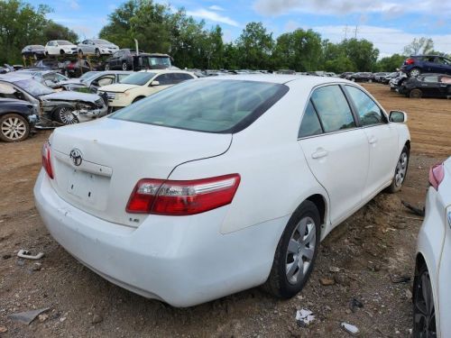
[[[303,217],[290,237],[285,259],[286,276],[290,284],[304,279],[315,254],[317,226],[311,217]]]

